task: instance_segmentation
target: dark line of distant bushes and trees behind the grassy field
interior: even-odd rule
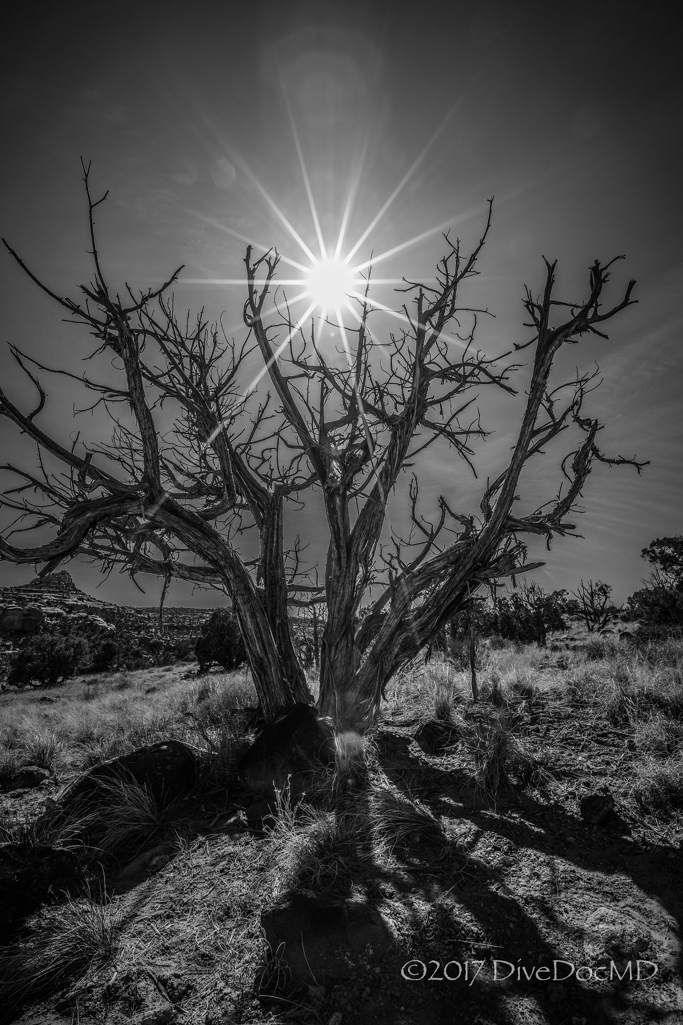
[[[590,632],[604,628],[614,615],[633,620],[637,623],[636,643],[683,632],[683,535],[655,538],[641,555],[652,566],[652,572],[643,580],[643,587],[627,600],[625,608],[612,604],[612,588],[602,580],[582,580],[573,592],[548,592],[536,582],[523,583],[504,594],[494,588],[493,600],[474,598],[447,623],[427,649],[427,657],[439,651],[465,667],[473,630],[477,638],[545,646],[548,633],[563,629],[570,616],[581,616]],[[361,610],[360,622],[364,615],[370,612]],[[301,662],[314,668],[325,620],[316,614],[299,617],[294,624]],[[9,662],[7,683],[15,687],[34,683],[54,687],[77,672],[141,669],[172,663],[179,655],[173,643],[161,636],[112,638],[97,632],[41,631],[20,642]],[[247,661],[231,609],[215,609],[208,617],[195,655],[201,672],[212,665],[229,671]]]

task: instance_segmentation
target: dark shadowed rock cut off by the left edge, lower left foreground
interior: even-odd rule
[[[31,844],[0,847],[0,937],[41,904],[78,890],[81,883],[72,851]]]

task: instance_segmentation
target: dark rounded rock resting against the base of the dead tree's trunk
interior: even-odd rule
[[[335,758],[332,721],[312,705],[299,703],[264,727],[240,763],[240,776],[256,793],[273,797],[290,782],[290,794],[299,796],[307,777]]]

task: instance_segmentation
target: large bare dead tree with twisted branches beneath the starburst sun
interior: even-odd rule
[[[418,511],[418,484],[410,485],[412,534],[387,541],[387,502],[418,453],[439,443],[458,466],[473,469],[475,441],[486,432],[472,412],[475,389],[515,394],[518,365],[502,365],[474,348],[476,311],[463,303],[461,286],[476,274],[490,225],[469,255],[445,236],[436,283],[405,282],[405,325],[382,343],[371,329],[375,308],[369,284],[357,302],[349,360],[326,355],[312,327],[294,330],[276,290],[280,256],[254,258],[247,249],[246,338],[236,344],[202,314],[176,317],[169,288],[114,294],[95,241],[93,202],[85,170],[94,263],[93,280],[77,299],[43,284],[9,252],[69,319],[95,337],[91,356],[109,378],[74,376],[113,421],[106,443],[66,444],[37,422],[45,403],[38,373],[48,368],[17,348],[12,354],[34,381],[39,403],[22,412],[0,392],[0,414],[32,438],[40,469],[6,464],[15,485],[2,503],[19,520],[0,539],[0,558],[42,564],[52,571],[76,556],[164,579],[193,581],[229,596],[239,619],[254,683],[267,720],[295,701],[310,701],[292,643],[288,608],[322,602],[326,627],[321,652],[319,709],[345,728],[365,731],[376,720],[391,676],[462,610],[478,588],[500,577],[543,565],[526,562],[523,538],[573,531],[571,511],[596,461],[600,424],[584,414],[594,375],[551,388],[558,351],[601,327],[634,300],[634,282],[612,305],[603,292],[613,260],[590,269],[586,298],[554,297],[555,262],[546,260],[543,294],[526,290],[532,369],[517,439],[505,468],[483,489],[480,515],[438,503],[434,523]],[[7,245],[7,243],[5,243]],[[268,312],[270,305],[272,312]],[[279,333],[280,332],[280,333]],[[283,333],[285,333],[284,341]],[[244,389],[243,364],[257,348],[270,392]],[[510,354],[507,354],[508,356]],[[111,367],[118,382],[111,382]],[[66,371],[57,371],[66,372]],[[259,398],[260,395],[260,398]],[[164,422],[164,430],[160,422]],[[168,427],[172,420],[172,426]],[[554,439],[573,428],[577,447],[561,461],[556,496],[515,511],[520,475]],[[324,500],[329,547],[323,586],[307,582],[299,554],[285,544],[286,510],[313,490]],[[14,533],[52,528],[41,543],[17,543]],[[241,548],[255,528],[259,551]],[[26,538],[26,533],[24,534]],[[358,616],[371,599],[370,613]]]

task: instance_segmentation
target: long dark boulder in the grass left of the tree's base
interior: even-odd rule
[[[67,788],[59,804],[67,809],[96,799],[101,784],[117,779],[134,780],[146,786],[158,801],[169,804],[191,789],[196,765],[197,756],[187,744],[180,740],[160,740],[94,766]]]

